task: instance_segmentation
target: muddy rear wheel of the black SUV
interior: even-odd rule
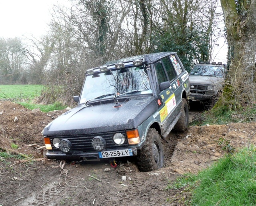
[[[184,132],[188,129],[188,103],[184,98],[182,98],[182,114],[174,129],[178,132]]]

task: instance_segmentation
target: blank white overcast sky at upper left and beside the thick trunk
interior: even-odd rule
[[[0,38],[40,37],[46,34],[54,4],[69,6],[68,0],[0,0]],[[227,46],[215,48],[214,61],[226,62]],[[218,53],[218,54],[217,54]]]

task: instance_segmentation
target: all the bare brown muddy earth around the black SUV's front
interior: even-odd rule
[[[1,150],[31,158],[0,157],[0,205],[184,205],[189,194],[166,187],[182,174],[196,173],[222,157],[226,152],[221,138],[235,149],[256,143],[255,122],[192,126],[163,140],[166,165],[156,171],[139,172],[133,158],[117,160],[116,168],[108,161],[48,160],[41,148],[42,130],[65,111],[42,113],[0,101]]]

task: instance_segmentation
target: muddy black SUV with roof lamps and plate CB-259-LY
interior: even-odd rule
[[[142,171],[164,166],[164,139],[188,129],[188,73],[175,52],[110,61],[88,69],[78,106],[44,128],[50,159],[137,156]]]

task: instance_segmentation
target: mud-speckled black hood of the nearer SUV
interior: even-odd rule
[[[106,101],[109,102],[109,101]],[[114,108],[112,103],[78,106],[44,128],[44,136],[83,135],[135,129],[158,109],[156,99],[130,99]]]

